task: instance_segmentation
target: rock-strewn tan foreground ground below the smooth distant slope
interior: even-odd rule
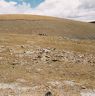
[[[0,96],[95,96],[94,43],[70,42],[2,35]]]

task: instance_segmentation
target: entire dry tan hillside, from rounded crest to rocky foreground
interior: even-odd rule
[[[95,96],[95,25],[0,15],[0,96]]]

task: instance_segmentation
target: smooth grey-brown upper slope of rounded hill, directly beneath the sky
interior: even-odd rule
[[[95,39],[93,24],[31,15],[0,15],[0,32],[57,35],[71,39]]]

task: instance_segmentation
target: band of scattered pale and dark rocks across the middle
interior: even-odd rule
[[[19,51],[18,51],[19,50]],[[7,54],[7,55],[6,55]],[[14,58],[12,58],[14,57]],[[95,54],[40,48],[31,45],[0,46],[0,64],[25,65],[32,63],[68,62],[76,64],[95,64]]]

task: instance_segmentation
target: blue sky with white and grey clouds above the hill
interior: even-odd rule
[[[33,14],[95,20],[95,0],[0,0],[0,14]]]

